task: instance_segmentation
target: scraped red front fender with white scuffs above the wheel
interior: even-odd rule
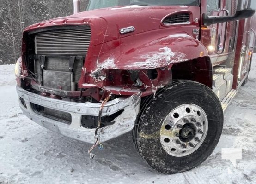
[[[157,39],[139,34],[103,44],[97,68],[156,69],[207,55],[206,47],[187,33]]]

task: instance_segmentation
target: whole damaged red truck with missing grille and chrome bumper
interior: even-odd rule
[[[179,173],[218,144],[223,111],[248,80],[252,0],[91,0],[23,33],[20,108],[93,144],[132,131],[155,170]],[[91,157],[93,155],[91,154]]]

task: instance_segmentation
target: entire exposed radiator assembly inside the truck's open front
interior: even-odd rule
[[[35,55],[30,74],[41,86],[78,90],[78,81],[91,41],[91,29],[61,29],[34,34]]]

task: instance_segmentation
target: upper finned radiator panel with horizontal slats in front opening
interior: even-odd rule
[[[68,29],[38,33],[36,54],[86,55],[91,40],[91,29]]]

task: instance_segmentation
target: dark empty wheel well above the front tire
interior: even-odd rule
[[[173,80],[191,80],[213,88],[213,68],[209,57],[200,57],[171,67]]]

